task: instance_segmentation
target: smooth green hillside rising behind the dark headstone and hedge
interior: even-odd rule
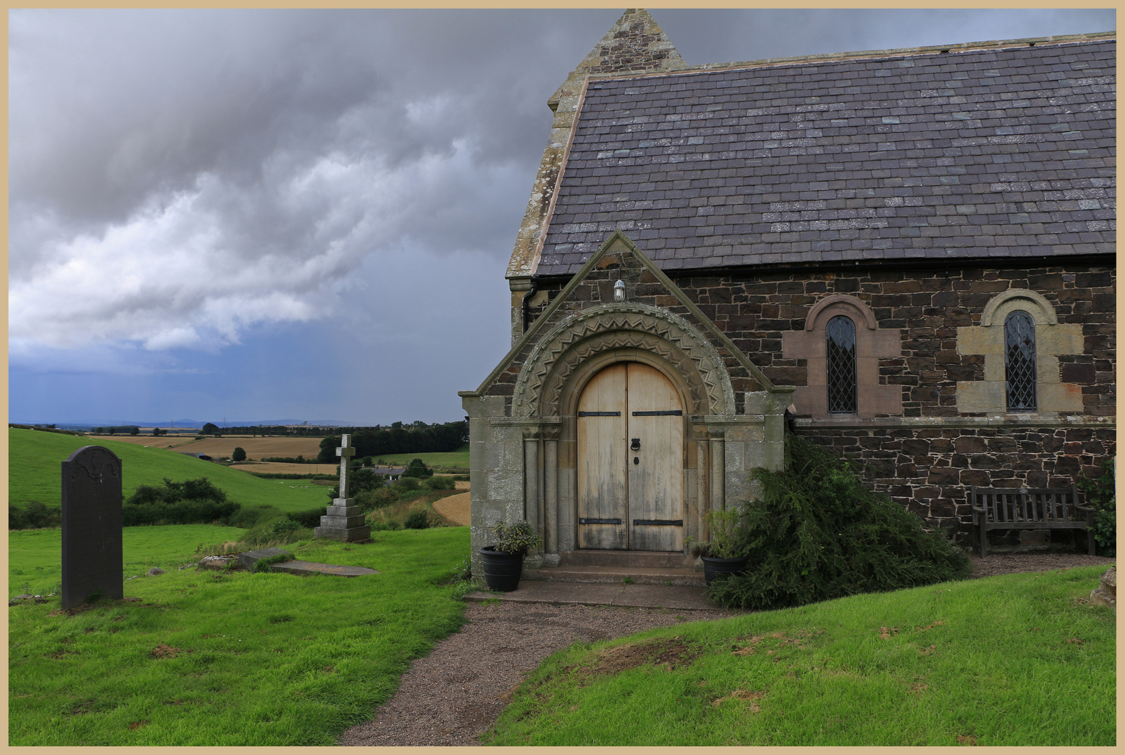
[[[262,480],[244,472],[184,456],[165,448],[39,430],[8,429],[8,502],[20,506],[39,501],[62,503],[62,462],[82,446],[109,448],[122,460],[125,498],[138,485],[158,485],[164,477],[182,481],[207,477],[243,506],[274,506],[281,511],[300,511],[327,506],[327,488],[304,480]]]

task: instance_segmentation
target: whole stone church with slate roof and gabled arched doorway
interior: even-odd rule
[[[929,526],[1114,454],[1115,33],[687,65],[629,10],[548,100],[474,391],[500,520],[684,553],[789,427]]]

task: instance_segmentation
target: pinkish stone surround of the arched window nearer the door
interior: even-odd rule
[[[782,356],[806,360],[808,379],[793,391],[798,415],[813,419],[843,418],[828,413],[828,347],[825,327],[828,320],[844,315],[855,324],[856,413],[857,419],[902,413],[902,389],[879,382],[879,360],[902,355],[902,335],[898,329],[880,329],[871,307],[846,293],[822,298],[809,310],[804,330],[782,334]]]

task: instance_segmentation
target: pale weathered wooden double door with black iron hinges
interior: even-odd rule
[[[639,362],[598,372],[578,399],[578,547],[683,551],[684,412]]]

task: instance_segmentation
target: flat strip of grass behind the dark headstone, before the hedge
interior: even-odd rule
[[[125,576],[144,574],[153,566],[165,571],[191,561],[200,546],[237,542],[246,530],[214,525],[166,525],[125,527],[122,530]],[[62,530],[20,529],[8,531],[8,591],[45,595],[57,592],[62,582]]]

